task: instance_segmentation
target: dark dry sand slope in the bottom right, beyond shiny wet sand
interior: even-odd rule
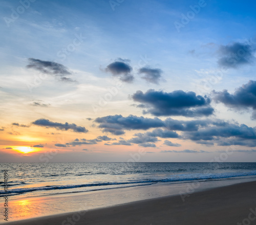
[[[147,199],[108,208],[8,222],[16,225],[106,224],[253,224],[256,181],[210,190]]]

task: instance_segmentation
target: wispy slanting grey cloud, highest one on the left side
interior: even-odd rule
[[[29,64],[27,65],[27,68],[33,68],[39,72],[49,74],[57,78],[59,81],[74,82],[72,79],[66,77],[71,75],[71,72],[66,66],[63,66],[62,64],[34,58],[29,58],[28,61]]]

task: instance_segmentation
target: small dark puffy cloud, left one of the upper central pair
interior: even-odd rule
[[[113,76],[119,77],[119,79],[126,83],[132,83],[134,76],[131,74],[133,68],[127,63],[127,61],[118,59],[119,61],[109,64],[106,68],[106,72],[111,72]]]

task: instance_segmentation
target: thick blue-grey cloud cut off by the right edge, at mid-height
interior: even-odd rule
[[[256,81],[249,81],[230,94],[227,90],[212,91],[214,100],[217,103],[223,103],[225,106],[236,109],[245,110],[253,109],[252,119],[256,119]]]

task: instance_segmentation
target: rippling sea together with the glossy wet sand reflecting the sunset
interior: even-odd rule
[[[256,163],[237,162],[0,165],[0,197],[3,202],[8,195],[13,220],[76,211],[84,204],[92,209],[180,194],[190,184],[200,184],[194,186],[199,190],[255,180],[256,176]],[[8,170],[8,192],[4,190],[4,170]],[[190,186],[189,191],[195,190]]]

